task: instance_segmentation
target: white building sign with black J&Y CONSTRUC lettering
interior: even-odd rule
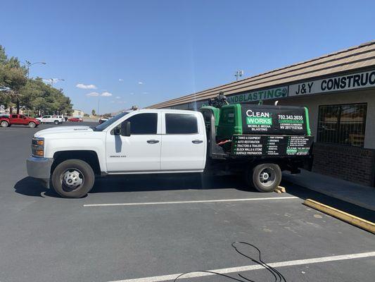
[[[289,96],[375,87],[375,71],[301,82],[289,86]]]

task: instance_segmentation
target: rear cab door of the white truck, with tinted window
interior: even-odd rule
[[[198,114],[163,113],[162,171],[202,171],[206,136]]]

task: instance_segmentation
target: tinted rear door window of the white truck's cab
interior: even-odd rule
[[[196,116],[191,114],[165,114],[165,129],[167,134],[198,133]]]

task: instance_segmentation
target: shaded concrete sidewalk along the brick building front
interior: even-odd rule
[[[303,169],[300,174],[284,172],[283,180],[375,211],[375,188],[373,187],[355,184]]]

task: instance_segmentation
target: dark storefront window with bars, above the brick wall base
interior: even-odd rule
[[[319,106],[318,142],[363,147],[367,104]]]

